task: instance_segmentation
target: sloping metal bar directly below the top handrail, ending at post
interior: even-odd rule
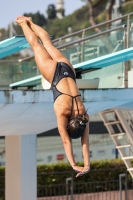
[[[70,42],[68,44],[64,44],[62,46],[57,47],[57,49],[62,49],[62,48],[71,46],[73,44],[77,44],[77,43],[80,43],[80,42],[83,42],[83,41],[86,41],[86,40],[89,40],[89,39],[92,39],[92,38],[95,38],[95,37],[98,37],[98,36],[101,36],[101,35],[104,35],[104,34],[107,34],[107,33],[110,33],[112,31],[120,30],[120,29],[123,29],[123,28],[125,28],[125,25],[118,26],[116,28],[113,28],[113,29],[110,29],[110,30],[107,30],[107,31],[103,31],[103,32],[100,32],[100,33],[97,33],[97,34],[94,34],[94,35],[91,35],[91,36],[88,36],[88,37],[85,37],[85,38],[82,38],[82,39],[79,39],[79,40],[76,40],[76,41],[73,41],[73,42]]]

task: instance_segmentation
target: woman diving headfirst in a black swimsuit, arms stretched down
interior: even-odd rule
[[[76,85],[74,68],[67,58],[53,46],[49,34],[35,25],[30,17],[19,16],[15,22],[22,28],[32,47],[42,76],[52,85],[54,111],[65,153],[72,168],[77,172],[76,177],[82,176],[90,169],[89,116]],[[82,144],[83,167],[76,165],[71,143],[71,138],[79,137],[81,137]]]

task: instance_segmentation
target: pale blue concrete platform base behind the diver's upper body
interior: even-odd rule
[[[90,115],[133,108],[132,88],[81,90],[81,94]],[[1,136],[39,134],[57,127],[51,90],[0,91],[0,110]]]

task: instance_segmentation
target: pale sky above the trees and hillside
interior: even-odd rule
[[[49,4],[56,5],[57,0],[0,0],[0,28],[7,28],[8,24],[17,16],[24,13],[39,11],[47,17],[46,10]],[[82,0],[64,0],[65,15],[85,5]]]

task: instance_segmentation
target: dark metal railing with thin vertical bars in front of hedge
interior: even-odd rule
[[[51,184],[38,188],[38,200],[131,200],[133,181],[127,181],[126,174],[120,174],[120,179],[110,181],[93,181],[72,184]],[[122,180],[121,177],[124,177]],[[72,187],[73,186],[73,187]]]

